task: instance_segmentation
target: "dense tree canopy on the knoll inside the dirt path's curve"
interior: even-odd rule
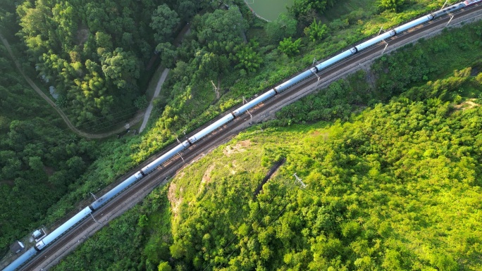
[[[56,87],[75,125],[130,109],[161,42],[210,1],[23,1],[17,36],[28,61]],[[182,14],[179,16],[178,14]],[[146,80],[147,78],[144,78]]]

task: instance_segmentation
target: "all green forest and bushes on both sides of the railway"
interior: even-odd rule
[[[240,0],[1,2],[23,73],[80,130],[142,113],[171,70],[146,132],[87,140],[0,44],[0,255],[183,131],[443,2],[295,0],[269,23]],[[54,270],[480,270],[481,35],[445,31],[283,108]]]

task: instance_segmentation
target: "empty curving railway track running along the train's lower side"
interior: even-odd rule
[[[478,20],[482,17],[482,5],[462,9],[461,11],[454,13],[454,15],[455,18],[452,20],[452,25],[460,24],[467,20]],[[421,37],[428,37],[436,32],[440,32],[449,19],[450,18],[446,17],[438,18],[424,25],[420,25],[419,27],[414,27],[414,29],[404,32],[403,34],[388,39],[387,42],[390,45],[386,53],[389,53],[400,46],[404,46],[405,44],[416,42],[416,39]],[[93,216],[95,220],[106,223],[113,218],[116,218],[116,216],[120,215],[123,210],[127,210],[130,208],[130,206],[132,206],[132,204],[142,200],[142,198],[152,191],[154,187],[165,184],[166,179],[169,176],[175,175],[175,172],[185,165],[183,160],[186,163],[195,161],[199,156],[202,156],[207,151],[214,149],[214,147],[220,144],[223,144],[225,141],[228,141],[235,134],[237,134],[237,132],[240,132],[240,130],[248,127],[249,121],[259,122],[265,120],[283,106],[296,101],[302,96],[313,92],[317,88],[326,87],[328,84],[330,84],[330,82],[338,80],[344,75],[358,70],[361,64],[369,64],[374,58],[381,55],[381,50],[383,50],[384,47],[385,44],[380,42],[376,46],[372,46],[370,49],[361,51],[352,56],[352,58],[348,58],[346,61],[341,61],[340,63],[336,63],[335,65],[330,66],[330,68],[323,70],[321,73],[319,73],[319,76],[322,77],[322,82],[320,84],[317,82],[317,77],[311,77],[309,80],[305,80],[304,82],[297,84],[295,87],[292,87],[289,92],[282,92],[273,99],[269,99],[268,101],[261,103],[259,106],[252,109],[251,113],[254,115],[252,120],[249,120],[249,115],[242,115],[240,118],[236,118],[232,122],[228,122],[228,124],[221,127],[221,129],[210,134],[202,141],[193,144],[193,146],[191,146],[188,150],[184,151],[183,159],[181,159],[179,156],[172,158],[170,161],[168,161],[168,163],[162,165],[160,168],[157,168],[154,170],[154,172],[142,179],[142,181],[135,183],[132,185],[132,187],[126,189],[122,194],[116,198],[113,198],[113,200],[107,203],[106,206],[94,212]],[[220,115],[218,118],[211,120],[211,122],[206,125],[209,125],[210,123],[222,117],[223,115]],[[204,127],[206,125],[204,125]],[[202,130],[202,128],[203,127],[200,127],[198,130],[193,131],[190,135]],[[170,149],[170,147],[166,148],[166,150],[168,149]],[[147,165],[150,163],[150,161],[156,159],[162,154],[163,153],[159,153],[155,157],[149,158],[147,161],[142,163],[142,165],[138,166],[136,170],[128,172],[123,177],[132,175],[132,172],[139,170],[144,165]],[[120,179],[123,179],[123,177]],[[68,233],[64,234],[60,239],[55,241],[54,244],[44,248],[44,250],[38,253],[35,258],[24,265],[21,270],[47,270],[49,267],[57,263],[60,258],[65,256],[68,251],[80,244],[83,239],[94,234],[94,232],[100,229],[103,225],[100,225],[99,222],[94,221],[92,218],[88,218],[80,222],[78,226],[70,229]]]

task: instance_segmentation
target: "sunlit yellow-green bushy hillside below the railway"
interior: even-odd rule
[[[461,86],[466,75],[445,82]],[[435,85],[413,91],[431,96]],[[94,244],[141,235],[147,245],[133,242],[144,248],[124,270],[479,270],[482,109],[451,102],[402,97],[348,122],[254,127],[154,191],[140,207],[149,215],[137,208],[113,223],[133,228],[116,244],[104,229],[56,270],[121,268]]]

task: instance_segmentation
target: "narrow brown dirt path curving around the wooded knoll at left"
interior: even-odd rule
[[[47,95],[45,95],[44,92],[42,92],[42,90],[40,90],[39,87],[37,87],[37,84],[35,84],[30,79],[30,77],[27,77],[27,75],[25,75],[25,73],[23,73],[23,70],[20,66],[20,63],[18,62],[17,58],[13,55],[10,44],[8,44],[8,41],[4,38],[4,36],[1,34],[1,32],[0,32],[0,39],[1,39],[1,42],[4,44],[5,48],[7,49],[8,53],[10,54],[11,58],[13,59],[13,62],[15,63],[18,72],[23,76],[23,78],[25,78],[25,81],[27,81],[27,83],[30,84],[30,87],[32,87],[32,89],[34,89],[35,92],[37,92],[37,94],[39,94],[42,97],[42,99],[47,101],[47,103],[49,103],[49,105],[57,111],[58,115],[61,115],[61,118],[63,119],[63,121],[66,122],[66,125],[69,127],[70,130],[75,132],[75,134],[78,134],[81,137],[85,137],[85,138],[88,138],[88,139],[102,139],[102,138],[105,138],[105,137],[110,137],[113,134],[118,134],[118,133],[123,132],[125,130],[125,127],[119,127],[118,129],[113,130],[111,132],[105,132],[105,133],[101,133],[101,134],[92,134],[92,133],[82,132],[82,131],[78,130],[77,127],[75,127],[72,124],[72,122],[70,122],[70,120],[67,118],[67,115],[65,113],[63,113],[63,111],[61,111],[61,108],[58,108],[58,106],[54,103],[54,101],[52,101]],[[144,115],[142,112],[137,113],[134,116],[134,118],[132,118],[131,120],[128,121],[129,125],[132,126],[132,125],[135,125],[137,122],[139,122],[142,118],[142,115]]]

